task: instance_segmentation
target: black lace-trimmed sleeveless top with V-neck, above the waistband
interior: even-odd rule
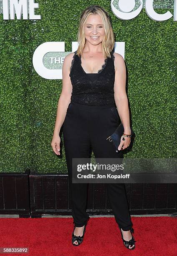
[[[114,105],[114,52],[107,57],[97,73],[86,73],[81,66],[81,56],[74,52],[70,78],[73,87],[71,102],[84,105]]]

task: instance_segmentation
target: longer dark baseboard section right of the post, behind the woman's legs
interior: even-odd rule
[[[30,172],[30,215],[71,215],[68,174]],[[177,212],[177,184],[125,184],[131,215]],[[105,184],[88,184],[89,215],[113,214]]]

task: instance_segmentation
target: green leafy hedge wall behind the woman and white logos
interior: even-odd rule
[[[40,77],[32,58],[47,41],[65,41],[65,51],[71,51],[80,13],[93,4],[109,12],[115,41],[125,41],[136,138],[124,157],[176,157],[177,22],[151,20],[145,9],[132,20],[119,20],[106,0],[76,1],[74,9],[71,0],[37,2],[41,20],[3,20],[0,15],[0,172],[67,172],[64,146],[62,156],[51,148],[62,80]]]

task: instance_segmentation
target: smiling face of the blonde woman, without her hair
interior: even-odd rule
[[[104,25],[99,14],[91,14],[88,16],[84,25],[84,34],[86,41],[91,44],[100,44],[104,38]]]

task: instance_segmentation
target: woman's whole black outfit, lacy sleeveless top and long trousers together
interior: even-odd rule
[[[114,52],[97,73],[86,73],[81,56],[74,52],[71,62],[71,102],[63,123],[63,142],[72,200],[72,216],[76,227],[89,219],[86,212],[87,183],[72,183],[72,158],[123,158],[106,140],[118,126],[119,114],[114,100]],[[116,223],[122,230],[132,226],[124,183],[105,183]]]

